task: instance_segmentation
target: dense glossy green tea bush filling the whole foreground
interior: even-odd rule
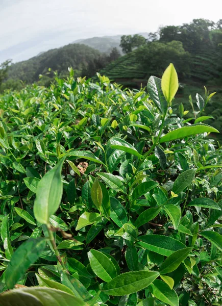
[[[214,93],[191,124],[172,64],[148,93],[69,70],[0,97],[0,305],[221,305]]]

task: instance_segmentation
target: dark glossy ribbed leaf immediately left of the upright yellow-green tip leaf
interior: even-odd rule
[[[167,101],[161,89],[161,79],[152,75],[147,83],[147,92],[149,93],[156,107],[162,114],[165,114],[167,111]]]

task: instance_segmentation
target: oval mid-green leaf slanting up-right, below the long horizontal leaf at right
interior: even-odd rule
[[[172,186],[172,191],[176,194],[181,193],[185,188],[187,188],[193,181],[195,177],[196,169],[189,169],[180,173]]]

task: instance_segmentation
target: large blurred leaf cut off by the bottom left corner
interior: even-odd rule
[[[5,306],[85,306],[76,296],[64,291],[47,287],[19,288],[0,296],[0,304]]]

